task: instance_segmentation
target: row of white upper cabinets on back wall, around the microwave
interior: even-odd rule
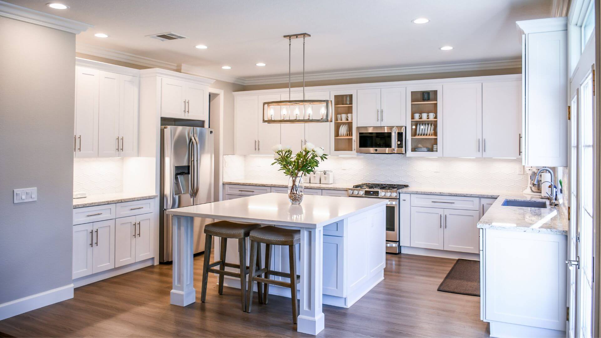
[[[329,155],[354,155],[356,127],[406,126],[407,156],[519,158],[521,87],[520,75],[307,87],[307,97],[329,93],[334,108],[332,122],[307,124],[263,123],[263,102],[288,99],[287,88],[240,91],[234,153],[270,154],[278,143],[296,151],[311,142]],[[293,99],[301,93],[291,90]],[[350,121],[338,121],[342,114]],[[350,129],[344,135],[342,124]]]

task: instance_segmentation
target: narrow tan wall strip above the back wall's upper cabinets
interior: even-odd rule
[[[412,80],[427,80],[427,79],[447,79],[447,78],[466,78],[469,76],[487,76],[487,75],[505,75],[505,74],[520,74],[521,68],[507,69],[489,69],[489,70],[470,70],[468,72],[447,72],[447,73],[429,73],[429,74],[410,74],[410,75],[394,75],[394,76],[377,76],[373,78],[352,78],[352,79],[334,79],[334,80],[319,80],[305,81],[305,87],[315,87],[319,85],[342,85],[342,84],[367,84],[375,82],[394,82],[394,81],[412,81]],[[291,87],[302,87],[302,82],[292,82]],[[288,82],[283,84],[259,84],[246,85],[244,90],[264,90],[288,88]]]

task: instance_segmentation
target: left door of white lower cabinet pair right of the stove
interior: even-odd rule
[[[445,209],[411,207],[411,246],[442,250],[444,229],[442,217]]]

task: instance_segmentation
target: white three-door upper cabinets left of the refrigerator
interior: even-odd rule
[[[139,70],[78,58],[73,152],[138,156]]]

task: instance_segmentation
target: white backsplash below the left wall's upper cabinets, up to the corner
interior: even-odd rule
[[[123,191],[123,158],[73,160],[73,192],[88,195]]]

